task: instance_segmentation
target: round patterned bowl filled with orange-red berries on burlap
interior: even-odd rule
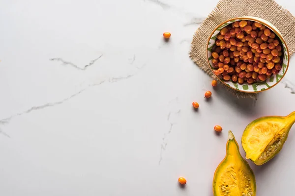
[[[279,31],[263,19],[237,18],[219,25],[207,44],[212,72],[229,87],[258,93],[276,85],[289,65]]]

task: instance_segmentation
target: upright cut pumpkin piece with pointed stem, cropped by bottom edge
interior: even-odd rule
[[[213,193],[214,196],[256,196],[254,173],[241,156],[232,131],[229,131],[226,156],[214,173]]]

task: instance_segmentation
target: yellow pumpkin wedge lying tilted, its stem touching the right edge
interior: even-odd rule
[[[263,165],[282,149],[295,123],[295,111],[286,117],[267,116],[254,120],[245,128],[242,147],[246,159]]]

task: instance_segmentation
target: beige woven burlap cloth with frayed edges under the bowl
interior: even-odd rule
[[[216,76],[207,62],[207,40],[212,31],[226,20],[254,16],[265,19],[276,26],[287,43],[290,55],[295,52],[295,17],[273,0],[221,0],[195,32],[191,43],[191,59],[211,77]],[[241,93],[219,82],[238,98],[257,98],[257,94]]]

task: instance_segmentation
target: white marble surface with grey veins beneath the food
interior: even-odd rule
[[[295,14],[294,2],[277,2]],[[192,35],[216,4],[1,1],[0,195],[212,196],[227,131],[240,144],[252,120],[295,110],[294,58],[256,102],[212,89],[189,59]],[[257,196],[290,195],[294,149],[295,127],[272,161],[250,163]]]

